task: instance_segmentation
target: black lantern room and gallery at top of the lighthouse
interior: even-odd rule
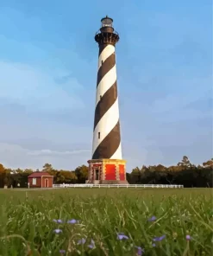
[[[105,16],[101,19],[102,27],[97,31],[95,35],[95,41],[100,45],[112,44],[116,45],[119,41],[119,35],[112,26],[113,19],[109,16]]]

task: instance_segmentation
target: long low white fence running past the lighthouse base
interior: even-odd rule
[[[153,184],[53,184],[53,188],[152,188],[152,189],[182,189],[184,185],[153,185]]]

